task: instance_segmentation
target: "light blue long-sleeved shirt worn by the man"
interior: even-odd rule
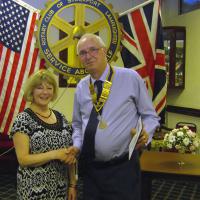
[[[109,66],[99,80],[105,81]],[[92,79],[92,82],[95,80]],[[128,153],[131,129],[135,128],[141,116],[149,141],[159,126],[152,101],[144,80],[132,69],[114,67],[114,77],[109,97],[103,107],[102,118],[106,129],[97,128],[95,135],[96,160],[106,161]],[[73,112],[73,144],[81,149],[84,132],[93,107],[89,90],[90,76],[83,78],[77,85]]]

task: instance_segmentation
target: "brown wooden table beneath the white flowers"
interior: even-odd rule
[[[144,151],[140,158],[142,199],[151,199],[152,179],[200,181],[200,155]]]

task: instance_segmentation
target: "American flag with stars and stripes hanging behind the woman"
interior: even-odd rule
[[[22,87],[43,62],[35,48],[39,12],[21,0],[0,0],[0,132],[25,108]]]

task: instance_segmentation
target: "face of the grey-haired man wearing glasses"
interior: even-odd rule
[[[78,55],[89,73],[105,66],[106,50],[94,38],[84,38],[79,43]]]

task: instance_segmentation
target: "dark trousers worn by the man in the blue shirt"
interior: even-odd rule
[[[108,166],[91,164],[83,180],[84,200],[140,200],[139,155]]]

